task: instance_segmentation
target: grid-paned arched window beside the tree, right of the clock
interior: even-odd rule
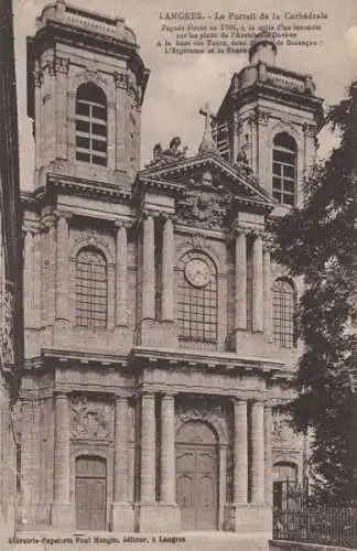
[[[290,281],[277,279],[273,283],[273,336],[282,348],[293,348],[296,344],[295,290]]]

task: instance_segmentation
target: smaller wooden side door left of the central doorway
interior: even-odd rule
[[[107,465],[101,457],[76,461],[76,527],[106,530]]]

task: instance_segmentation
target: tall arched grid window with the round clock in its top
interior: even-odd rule
[[[177,323],[181,339],[217,342],[217,270],[199,251],[186,252],[178,263]]]

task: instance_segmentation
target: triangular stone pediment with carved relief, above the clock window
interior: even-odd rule
[[[210,227],[223,226],[237,205],[240,210],[268,214],[275,204],[249,168],[232,165],[212,152],[152,164],[138,174],[139,182],[152,191],[175,193],[180,218]]]

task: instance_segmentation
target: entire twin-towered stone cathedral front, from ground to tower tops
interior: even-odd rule
[[[260,36],[197,153],[175,137],[140,169],[132,30],[63,0],[36,23],[19,527],[269,536],[305,468],[279,410],[302,282],[271,261],[269,224],[303,199],[314,83]]]

